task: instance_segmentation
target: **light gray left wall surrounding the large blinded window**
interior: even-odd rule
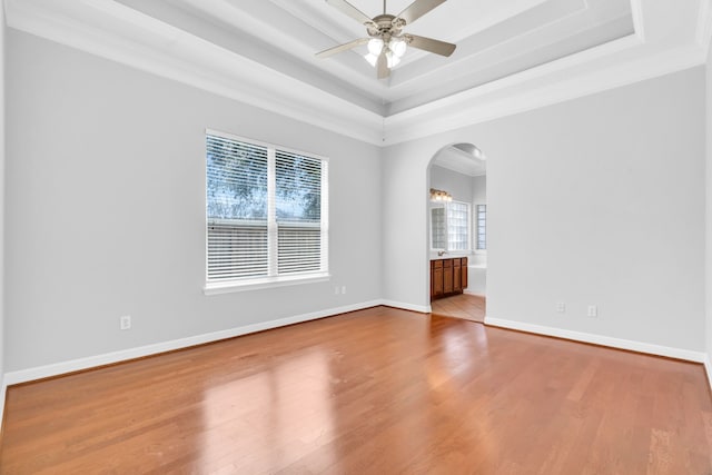
[[[7,41],[7,372],[382,297],[378,148],[17,30]],[[329,157],[330,283],[202,294],[206,127]]]

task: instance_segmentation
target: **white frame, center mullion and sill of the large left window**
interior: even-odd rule
[[[328,270],[328,255],[329,255],[329,246],[328,246],[328,216],[329,216],[329,207],[328,207],[328,158],[323,157],[312,152],[305,152],[300,150],[295,150],[289,147],[283,147],[279,145],[267,144],[255,139],[249,139],[240,136],[236,136],[228,132],[222,132],[212,129],[205,130],[205,137],[207,136],[217,136],[228,140],[235,140],[244,144],[254,145],[257,147],[267,148],[268,154],[268,194],[273,195],[276,189],[275,185],[275,162],[276,162],[276,152],[277,150],[299,155],[303,157],[308,157],[317,160],[322,160],[323,169],[322,169],[322,208],[320,208],[320,269],[318,271],[313,273],[304,273],[304,274],[295,274],[295,275],[276,275],[277,273],[277,253],[278,253],[278,222],[276,220],[276,206],[275,200],[269,199],[268,209],[267,209],[267,234],[268,234],[268,276],[266,277],[249,277],[249,278],[236,278],[236,279],[226,279],[226,280],[210,280],[208,278],[208,225],[209,218],[207,212],[207,187],[208,187],[208,176],[207,176],[207,164],[206,156],[207,150],[204,149],[202,160],[205,164],[204,168],[204,178],[205,178],[205,187],[204,187],[204,200],[206,205],[205,211],[205,295],[215,295],[215,294],[226,294],[234,291],[244,291],[244,290],[257,290],[261,288],[273,288],[273,287],[281,287],[281,286],[290,286],[290,285],[299,285],[299,284],[313,284],[319,281],[328,281],[330,278]],[[285,225],[285,222],[281,222]],[[288,226],[289,224],[286,222]],[[304,224],[303,224],[304,225]],[[306,226],[306,225],[305,225]]]

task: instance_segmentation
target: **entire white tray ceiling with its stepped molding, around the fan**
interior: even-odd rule
[[[6,0],[24,30],[377,145],[491,120],[704,63],[711,0],[448,0],[377,80],[365,37],[324,0]],[[350,0],[373,17],[380,0]],[[411,0],[388,1],[400,12]]]

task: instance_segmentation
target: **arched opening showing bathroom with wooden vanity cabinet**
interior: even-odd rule
[[[434,314],[484,321],[487,281],[486,156],[441,148],[427,169],[429,301]]]

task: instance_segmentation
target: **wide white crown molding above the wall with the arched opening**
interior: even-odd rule
[[[617,61],[605,61],[603,65],[599,65],[602,61],[582,58],[596,56],[597,51],[594,50],[597,49],[609,51],[601,56],[602,59],[609,59],[613,51],[626,55],[621,55]],[[384,145],[443,133],[682,71],[704,65],[706,58],[696,44],[659,52],[645,49],[636,37],[624,38],[594,50],[387,117]],[[583,65],[587,67],[575,72]]]

